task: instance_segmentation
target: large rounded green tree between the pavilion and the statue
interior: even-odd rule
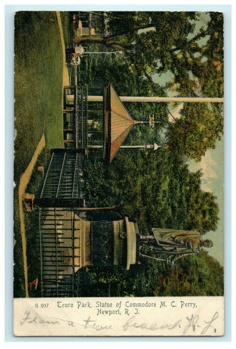
[[[102,163],[87,166],[89,206],[118,206],[144,234],[152,227],[202,234],[217,228],[216,197],[201,190],[201,172],[190,173],[168,148],[156,153],[120,150],[104,169]]]

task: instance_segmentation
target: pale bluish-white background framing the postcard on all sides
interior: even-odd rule
[[[17,337],[12,335],[12,181],[13,181],[13,171],[12,171],[12,158],[13,158],[13,14],[16,10],[71,10],[78,8],[86,9],[91,8],[91,5],[6,5],[5,6],[5,341],[16,342],[21,341]],[[95,10],[101,9],[101,5],[93,5]],[[134,9],[134,5],[127,5],[122,8],[119,5],[102,5],[106,9]],[[226,310],[226,330],[225,335],[218,338],[211,338],[209,341],[224,341],[229,342],[231,340],[231,5],[147,5],[147,6],[135,6],[137,10],[218,10],[225,13],[225,280],[226,280],[226,290],[225,290],[225,310]],[[149,7],[149,8],[147,8]],[[7,44],[6,44],[7,42]],[[6,74],[7,72],[7,74]],[[12,175],[10,175],[12,174]],[[12,179],[12,180],[11,180]],[[9,292],[11,290],[11,292]],[[30,339],[28,339],[30,342]],[[39,338],[38,341],[44,341],[45,339]],[[61,338],[53,338],[53,342],[61,341]],[[68,339],[65,339],[68,340]],[[73,339],[72,339],[73,340]],[[165,339],[166,341],[167,339]],[[171,342],[173,339],[168,338]],[[185,341],[183,339],[183,341]],[[191,340],[191,339],[190,339]],[[202,339],[199,339],[202,341]],[[25,338],[24,341],[27,341]],[[50,341],[50,338],[47,338]],[[162,341],[161,338],[158,341]],[[175,341],[178,342],[178,339]],[[196,340],[194,340],[196,341]]]

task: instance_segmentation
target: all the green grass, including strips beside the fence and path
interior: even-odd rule
[[[18,183],[43,134],[47,148],[63,148],[63,56],[55,12],[19,11],[14,24],[14,297],[25,297]],[[44,163],[45,152],[36,166]],[[34,170],[26,190],[35,192],[38,180]],[[37,242],[35,219],[33,212],[25,213],[29,281],[38,275],[33,268],[38,256],[30,249]]]

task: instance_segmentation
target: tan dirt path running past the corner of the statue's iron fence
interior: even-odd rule
[[[28,164],[27,169],[21,175],[19,180],[19,218],[20,218],[20,232],[21,232],[21,240],[22,240],[22,252],[23,252],[23,265],[24,265],[24,283],[25,283],[25,296],[28,297],[28,275],[27,275],[27,258],[26,258],[26,237],[25,237],[25,226],[24,226],[24,211],[23,211],[23,203],[22,200],[24,198],[24,193],[26,186],[31,177],[34,165],[37,161],[38,155],[45,147],[45,137],[44,135],[40,139],[38,146],[33,154],[33,157]]]

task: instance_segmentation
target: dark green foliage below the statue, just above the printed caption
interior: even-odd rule
[[[179,259],[174,268],[140,257],[130,270],[121,267],[80,269],[79,297],[223,296],[223,267],[202,250]]]

